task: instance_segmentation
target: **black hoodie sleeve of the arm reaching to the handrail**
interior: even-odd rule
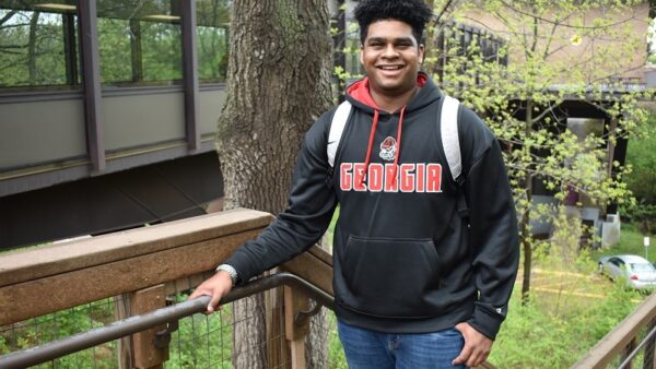
[[[337,205],[326,153],[331,114],[317,120],[305,134],[296,159],[288,209],[257,237],[225,261],[237,271],[237,283],[279,265],[315,245],[326,233]]]

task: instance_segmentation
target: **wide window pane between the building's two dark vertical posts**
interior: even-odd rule
[[[103,84],[179,83],[181,29],[177,0],[99,0]]]

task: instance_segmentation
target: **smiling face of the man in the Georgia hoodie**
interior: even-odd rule
[[[398,96],[415,88],[424,47],[418,44],[409,24],[400,21],[370,24],[360,51],[372,93]]]

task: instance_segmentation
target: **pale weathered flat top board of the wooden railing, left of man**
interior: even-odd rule
[[[0,253],[0,287],[243,231],[261,230],[272,218],[263,212],[235,210],[70,243]]]

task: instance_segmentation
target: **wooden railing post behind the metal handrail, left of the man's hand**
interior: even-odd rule
[[[134,291],[130,296],[130,314],[142,314],[166,306],[165,285],[160,284]],[[168,360],[168,348],[155,347],[155,333],[165,330],[166,325],[156,326],[132,335],[134,349],[134,367],[139,369],[161,369]]]

